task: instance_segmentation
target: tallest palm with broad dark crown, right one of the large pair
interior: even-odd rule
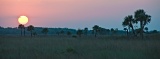
[[[139,9],[135,11],[135,21],[136,23],[140,22],[140,35],[143,39],[143,30],[146,24],[150,23],[151,21],[151,16],[146,14],[146,12],[143,9]]]

